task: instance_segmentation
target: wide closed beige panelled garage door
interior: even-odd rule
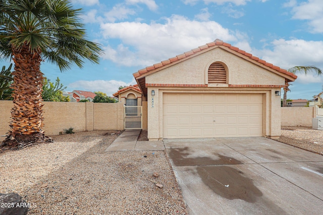
[[[262,94],[164,93],[163,137],[262,136]]]

